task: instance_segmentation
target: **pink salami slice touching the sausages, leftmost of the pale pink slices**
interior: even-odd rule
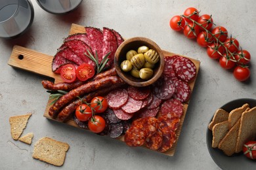
[[[111,109],[120,109],[128,101],[127,90],[121,88],[113,90],[106,95],[106,100],[108,101],[108,107]]]

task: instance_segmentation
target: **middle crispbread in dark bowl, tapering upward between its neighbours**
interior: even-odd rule
[[[236,152],[236,140],[238,139],[238,131],[240,127],[241,118],[234,124],[234,126],[226,133],[223,140],[219,143],[218,148],[223,150],[227,156],[232,156]]]

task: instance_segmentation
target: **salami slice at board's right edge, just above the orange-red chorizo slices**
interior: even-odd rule
[[[161,105],[161,115],[165,115],[168,113],[172,114],[172,117],[181,118],[183,114],[183,105],[181,101],[177,99],[169,99]]]

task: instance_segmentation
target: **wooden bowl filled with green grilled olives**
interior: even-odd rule
[[[131,86],[148,86],[163,73],[163,52],[156,42],[134,37],[125,40],[116,50],[114,65],[117,75]]]

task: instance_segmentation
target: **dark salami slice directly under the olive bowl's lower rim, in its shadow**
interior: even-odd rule
[[[143,100],[150,95],[150,88],[148,86],[146,87],[135,87],[135,86],[129,86],[127,89],[128,95],[132,97],[135,100]]]

